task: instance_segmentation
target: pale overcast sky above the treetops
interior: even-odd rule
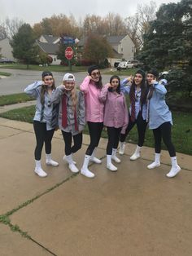
[[[157,7],[162,3],[180,2],[177,0],[154,0]],[[109,12],[123,18],[133,15],[137,4],[149,4],[150,0],[0,0],[0,22],[7,17],[18,18],[31,25],[51,15],[74,15],[76,20],[87,14],[105,16]]]

